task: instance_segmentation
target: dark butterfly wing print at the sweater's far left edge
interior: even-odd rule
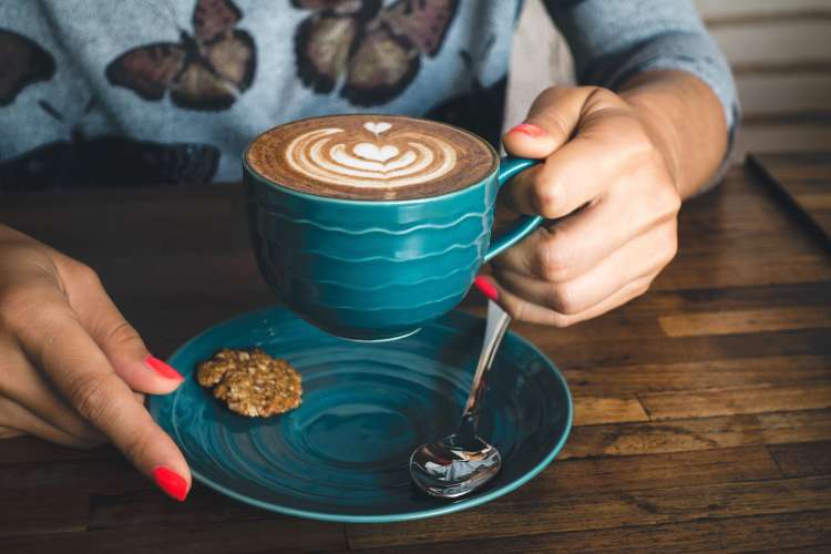
[[[22,34],[0,29],[0,106],[11,104],[17,95],[38,81],[54,75],[52,54]]]

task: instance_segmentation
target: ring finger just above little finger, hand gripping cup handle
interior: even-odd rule
[[[633,239],[575,279],[551,283],[495,269],[500,285],[523,299],[560,314],[587,310],[629,283],[660,270],[676,253],[675,226]]]

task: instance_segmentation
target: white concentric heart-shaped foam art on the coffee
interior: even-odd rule
[[[359,188],[434,181],[455,167],[455,147],[441,137],[397,132],[388,122],[368,122],[363,127],[365,137],[349,136],[338,127],[304,133],[286,148],[286,163],[309,178]]]

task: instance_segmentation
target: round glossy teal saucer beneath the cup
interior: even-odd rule
[[[484,398],[482,437],[501,473],[470,496],[427,496],[410,481],[418,445],[455,429],[484,321],[454,311],[393,342],[326,335],[284,308],[246,314],[191,339],[168,360],[186,380],[152,397],[153,418],[194,478],[247,504],[337,522],[394,522],[483,504],[521,486],[560,452],[572,399],[556,367],[509,332]],[[268,419],[236,416],[202,389],[196,365],[220,348],[259,347],[302,376],[302,404]]]

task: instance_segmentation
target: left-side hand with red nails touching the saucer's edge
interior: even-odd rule
[[[0,225],[0,437],[110,441],[171,496],[191,472],[144,408],[183,377],[150,355],[90,267]]]

